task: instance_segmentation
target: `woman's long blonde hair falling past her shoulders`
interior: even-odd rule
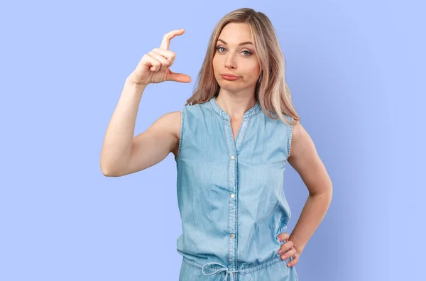
[[[261,67],[255,98],[263,111],[271,119],[280,118],[285,123],[293,124],[300,121],[291,99],[290,89],[285,82],[285,59],[275,29],[264,13],[250,8],[227,13],[214,27],[204,62],[195,82],[194,92],[187,99],[185,106],[204,103],[219,93],[220,87],[214,77],[212,60],[219,34],[228,23],[247,23],[251,28],[251,38]],[[283,114],[293,118],[293,122],[285,119]]]

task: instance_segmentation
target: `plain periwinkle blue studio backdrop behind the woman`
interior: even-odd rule
[[[124,80],[163,35],[182,84],[151,84],[135,136],[192,94],[224,14],[271,18],[332,204],[300,281],[421,280],[425,239],[423,1],[9,1],[0,6],[0,280],[178,280],[173,154],[104,177],[102,141]],[[293,230],[307,197],[291,166]]]

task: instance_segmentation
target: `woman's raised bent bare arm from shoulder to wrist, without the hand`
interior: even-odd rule
[[[126,79],[123,92],[109,121],[100,166],[102,173],[119,177],[151,167],[179,143],[180,111],[161,116],[133,138],[138,106],[146,86]]]

